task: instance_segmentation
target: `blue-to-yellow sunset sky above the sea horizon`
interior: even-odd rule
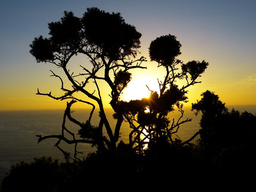
[[[39,88],[59,96],[60,82],[50,77],[50,70],[60,71],[36,63],[29,44],[40,35],[48,37],[48,23],[59,21],[65,10],[82,17],[88,7],[120,12],[142,34],[140,52],[148,59],[148,69],[132,73],[122,99],[143,96],[146,83],[157,87],[164,71],[150,62],[148,47],[155,38],[171,34],[182,44],[180,60],[209,63],[198,79],[202,83],[188,89],[187,105],[200,100],[206,90],[226,105],[256,105],[255,0],[0,0],[0,5],[0,110],[66,107],[65,100],[36,95]],[[106,105],[108,94],[102,96]]]

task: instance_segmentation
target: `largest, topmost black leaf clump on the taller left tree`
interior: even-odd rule
[[[109,13],[95,7],[88,8],[82,22],[86,39],[101,48],[103,55],[114,60],[121,55],[136,56],[141,34],[134,26],[126,24],[119,12]]]

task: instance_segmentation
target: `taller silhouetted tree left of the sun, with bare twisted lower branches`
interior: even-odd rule
[[[59,146],[61,141],[75,144],[74,158],[77,158],[76,145],[80,142],[96,146],[99,152],[111,151],[115,153],[120,127],[124,120],[122,110],[118,104],[118,96],[131,80],[131,73],[128,70],[146,68],[141,66],[142,62],[146,61],[144,57],[131,60],[139,53],[141,34],[134,26],[126,24],[120,13],[109,13],[95,7],[87,8],[82,18],[74,16],[73,12],[65,11],[64,17],[60,21],[51,22],[48,27],[50,37],[39,36],[34,38],[32,44],[30,44],[30,53],[36,58],[37,62],[52,63],[61,68],[68,81],[71,82],[71,86],[68,88],[64,78],[51,70],[52,76],[60,79],[61,90],[65,93],[62,96],[54,96],[51,92],[41,93],[38,90],[37,94],[46,95],[55,100],[70,99],[71,101],[67,102],[62,134],[38,135],[38,142],[46,138],[57,138],[56,146],[60,150],[62,150]],[[74,73],[69,70],[70,60],[81,54],[90,59],[88,62],[91,67],[88,63],[84,66],[80,65],[84,72]],[[103,74],[101,71],[103,71]],[[94,84],[94,91],[88,89],[90,80]],[[110,105],[117,116],[117,123],[114,128],[110,127],[106,118],[98,86],[100,81],[106,82],[110,88]],[[100,116],[98,125],[91,125],[95,103],[77,98],[76,92],[81,92],[96,102]],[[79,122],[71,116],[70,108],[76,102],[83,102],[92,106],[90,117],[85,122]],[[78,133],[82,139],[76,139],[75,134],[66,128],[66,118],[80,127]],[[103,128],[106,128],[108,138],[104,136]],[[66,133],[70,134],[73,140],[68,139]],[[68,158],[68,153],[64,152],[64,154]]]

